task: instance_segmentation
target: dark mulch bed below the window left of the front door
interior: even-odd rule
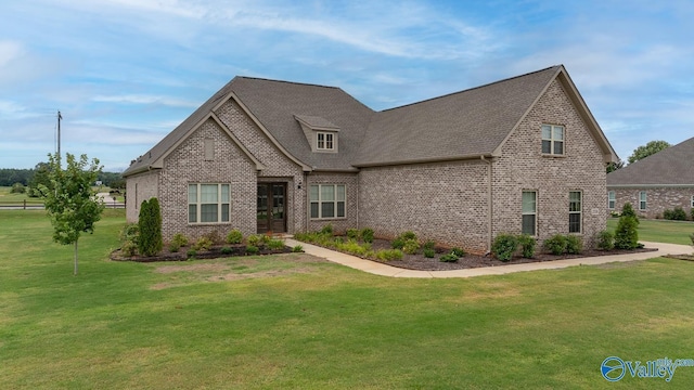
[[[222,252],[222,248],[228,248]],[[181,247],[179,251],[172,252],[167,248],[164,248],[162,252],[157,256],[124,256],[120,251],[120,248],[111,252],[111,260],[115,261],[137,261],[137,262],[155,262],[155,261],[187,261],[189,260],[188,251],[190,247]],[[277,253],[288,253],[292,251],[292,248],[284,247],[283,249],[267,249],[261,248],[260,252],[257,255],[248,255],[246,253],[245,245],[218,245],[211,247],[209,250],[197,250],[194,258],[195,259],[217,259],[217,258],[227,258],[234,256],[258,256],[258,255],[277,255]]]

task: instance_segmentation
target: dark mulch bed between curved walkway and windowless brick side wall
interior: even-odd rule
[[[390,249],[390,242],[386,239],[374,239],[372,245],[374,250],[378,249]],[[450,271],[450,270],[464,270],[464,269],[473,269],[473,268],[481,268],[481,266],[498,266],[498,265],[509,265],[509,264],[522,264],[522,263],[530,263],[530,262],[541,262],[541,261],[553,261],[553,260],[563,260],[563,259],[576,259],[576,258],[584,258],[584,257],[594,257],[594,256],[608,256],[608,255],[626,255],[626,253],[639,253],[646,251],[656,251],[657,249],[652,248],[641,248],[634,250],[622,250],[622,249],[614,249],[614,250],[597,250],[597,249],[587,249],[583,250],[580,255],[563,255],[563,256],[554,256],[551,253],[540,253],[536,252],[532,259],[525,259],[522,257],[514,257],[509,262],[503,262],[494,259],[491,256],[478,256],[467,253],[464,257],[460,258],[458,262],[441,262],[439,261],[439,257],[446,252],[444,248],[436,248],[436,257],[435,258],[426,258],[422,253],[416,255],[404,255],[402,260],[393,260],[393,261],[378,261],[372,260],[376,262],[383,262],[384,264],[402,268],[407,270],[419,270],[419,271]]]

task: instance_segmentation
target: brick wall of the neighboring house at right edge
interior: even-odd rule
[[[694,187],[608,187],[607,191],[614,191],[616,197],[615,208],[608,211],[621,211],[621,207],[626,203],[630,203],[637,214],[643,218],[663,218],[663,212],[666,209],[672,210],[676,207],[681,207],[687,218],[692,217]],[[639,193],[641,191],[646,193],[645,210],[639,209]]]

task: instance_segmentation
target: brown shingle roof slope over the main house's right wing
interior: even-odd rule
[[[489,155],[540,96],[561,66],[378,113],[360,165]]]

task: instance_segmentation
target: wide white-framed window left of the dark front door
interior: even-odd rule
[[[188,185],[188,222],[229,222],[230,184],[193,183]]]

